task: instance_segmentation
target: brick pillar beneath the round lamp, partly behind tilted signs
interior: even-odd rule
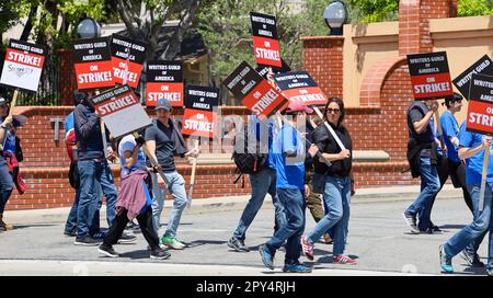
[[[328,96],[343,96],[343,36],[301,37],[303,69]]]

